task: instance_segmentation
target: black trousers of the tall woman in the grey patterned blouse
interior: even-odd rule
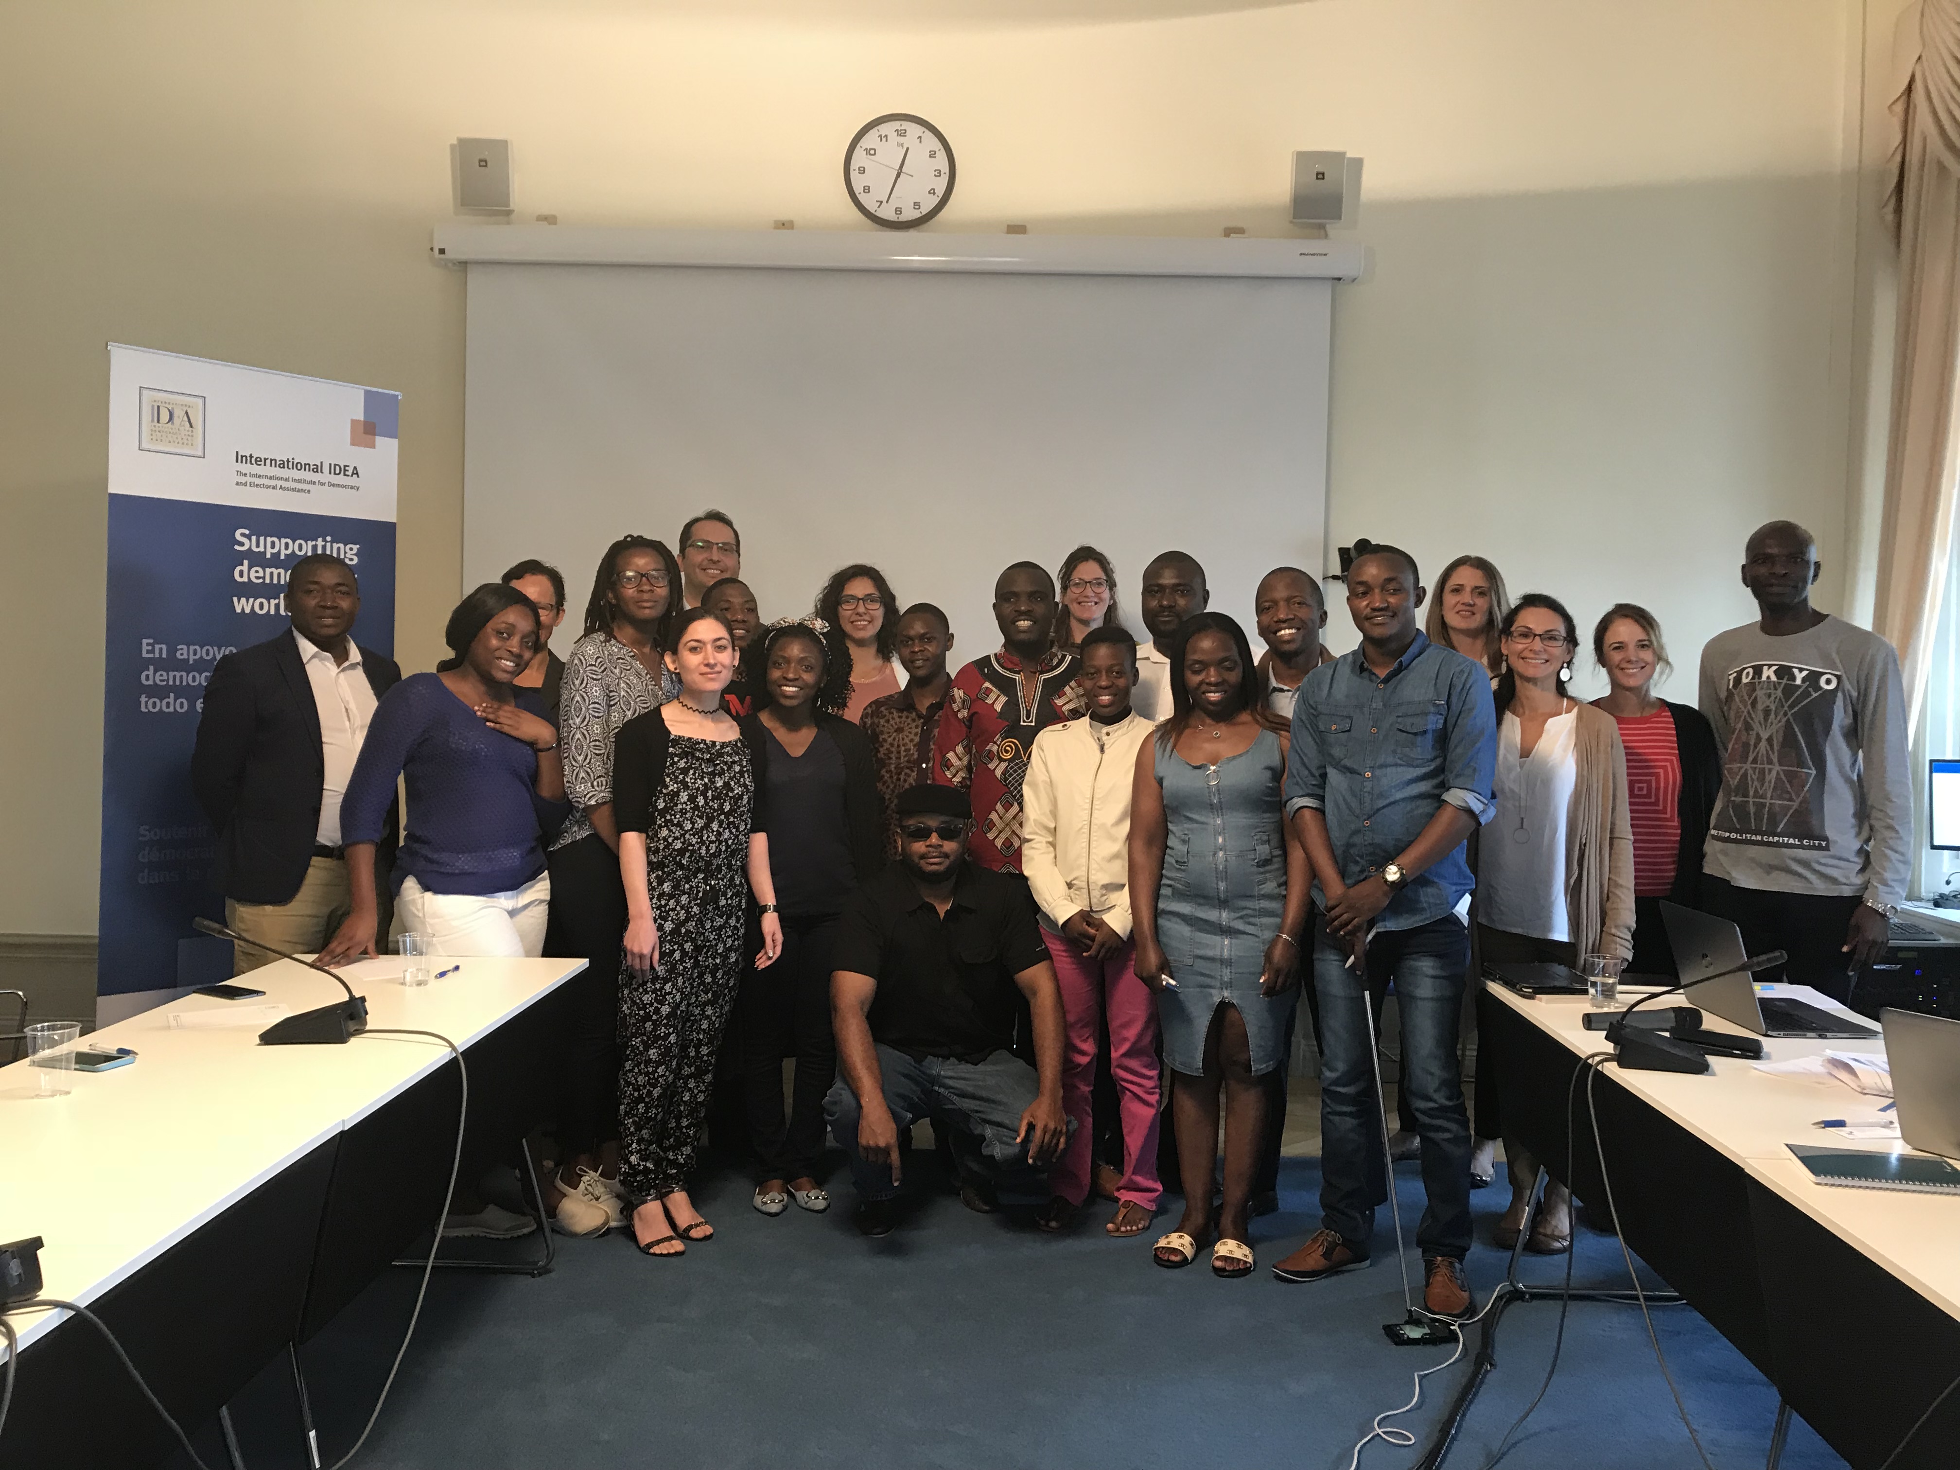
[[[545,855],[551,868],[551,925],[545,953],[580,958],[592,982],[566,1017],[559,1060],[559,1156],[598,1152],[619,1137],[619,949],[625,939],[625,884],[619,858],[598,833]]]

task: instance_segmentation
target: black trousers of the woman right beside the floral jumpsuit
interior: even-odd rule
[[[782,919],[782,955],[766,970],[751,966],[735,1002],[741,1021],[741,1076],[757,1180],[815,1178],[823,1158],[823,1096],[837,1078],[831,1037],[831,951],[837,915]],[[796,1058],[788,1119],[782,1111],[782,1058]]]

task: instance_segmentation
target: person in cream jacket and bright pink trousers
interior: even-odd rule
[[[1156,1064],[1156,998],[1137,978],[1129,933],[1129,792],[1137,749],[1154,725],[1129,708],[1137,643],[1121,627],[1082,639],[1082,690],[1090,717],[1051,725],[1035,739],[1021,788],[1021,872],[1041,907],[1041,937],[1062,988],[1068,1045],[1062,1107],[1074,1119],[1068,1149],[1049,1170],[1054,1198],[1041,1211],[1047,1231],[1064,1229],[1090,1192],[1090,1088],[1096,1041],[1109,1019],[1109,1070],[1123,1121],[1123,1184],[1103,1229],[1137,1235],[1156,1213],[1156,1125],[1162,1100]]]

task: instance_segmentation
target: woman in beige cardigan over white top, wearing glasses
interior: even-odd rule
[[[1611,715],[1566,694],[1578,627],[1556,598],[1531,592],[1499,625],[1497,815],[1480,845],[1476,919],[1486,962],[1633,955],[1633,823],[1627,753]],[[1478,1053],[1478,1133],[1499,1129],[1495,1088]],[[1511,1207],[1497,1225],[1509,1249],[1525,1225],[1539,1160],[1505,1137]],[[1546,1182],[1525,1249],[1572,1249],[1572,1194]]]

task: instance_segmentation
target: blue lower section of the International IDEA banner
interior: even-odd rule
[[[231,974],[231,947],[190,929],[200,913],[223,919],[210,884],[214,833],[190,790],[204,684],[225,653],[286,631],[286,572],[319,551],[361,578],[355,641],[392,657],[394,521],[110,496],[104,996]]]

